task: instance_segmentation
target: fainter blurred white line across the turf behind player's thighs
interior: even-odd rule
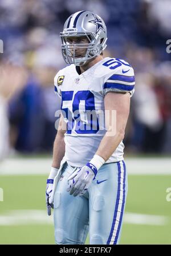
[[[167,225],[169,218],[139,213],[125,213],[124,223],[135,225]],[[47,216],[46,210],[13,210],[5,215],[0,215],[0,226],[11,225],[52,225],[53,217]]]

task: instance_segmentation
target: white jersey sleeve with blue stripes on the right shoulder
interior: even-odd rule
[[[115,73],[108,75],[105,78],[103,85],[103,94],[104,96],[108,92],[120,92],[125,93],[129,92],[129,94],[133,95],[135,91],[135,75],[133,68],[129,66],[129,68],[125,68],[125,66],[121,66],[119,70]]]

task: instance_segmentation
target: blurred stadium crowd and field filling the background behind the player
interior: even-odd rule
[[[44,199],[60,108],[53,79],[65,66],[59,32],[79,10],[104,19],[105,55],[135,69],[121,244],[171,243],[170,0],[1,0],[0,244],[54,243]]]

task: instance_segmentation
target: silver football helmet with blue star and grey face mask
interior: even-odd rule
[[[67,42],[69,37],[87,36],[86,44],[70,44]],[[64,23],[63,32],[60,32],[62,39],[62,55],[67,64],[74,63],[82,66],[87,60],[101,54],[107,47],[107,28],[103,19],[91,11],[78,11],[72,14]],[[76,58],[75,49],[87,48],[86,55]]]

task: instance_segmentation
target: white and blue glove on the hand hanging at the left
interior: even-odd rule
[[[51,167],[51,172],[50,175],[48,176],[47,179],[47,184],[46,184],[46,208],[47,208],[47,214],[48,216],[51,216],[51,209],[54,209],[54,205],[50,204],[49,200],[52,194],[52,189],[54,185],[54,178],[56,174],[58,173],[58,169]]]

